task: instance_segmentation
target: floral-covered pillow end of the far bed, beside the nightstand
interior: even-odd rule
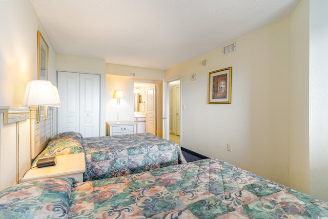
[[[41,157],[84,153],[81,138],[82,135],[78,132],[63,132],[55,135],[45,149],[34,159],[32,166]]]

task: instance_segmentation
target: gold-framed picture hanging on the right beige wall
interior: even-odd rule
[[[209,104],[231,104],[231,69],[210,72]]]

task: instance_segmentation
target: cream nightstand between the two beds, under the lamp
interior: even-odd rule
[[[83,173],[86,171],[84,153],[60,155],[56,158],[57,164],[54,166],[37,168],[34,164],[34,168],[25,173],[22,182],[51,177],[74,177],[78,182],[83,182]]]

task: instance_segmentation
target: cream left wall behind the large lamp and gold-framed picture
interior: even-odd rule
[[[0,106],[20,108],[28,81],[36,79],[37,30],[49,46],[49,80],[56,85],[55,51],[28,0],[0,1]],[[30,167],[30,122],[3,124],[0,116],[0,190],[16,183],[16,130],[19,177]]]

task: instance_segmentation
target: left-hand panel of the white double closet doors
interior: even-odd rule
[[[57,73],[57,89],[61,107],[57,108],[57,132],[80,132],[80,75],[79,73]]]

